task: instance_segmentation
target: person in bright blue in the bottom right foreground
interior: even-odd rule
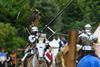
[[[93,45],[94,53],[84,56],[77,67],[100,67],[100,42],[94,39]]]

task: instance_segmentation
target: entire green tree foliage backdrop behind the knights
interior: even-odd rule
[[[0,48],[8,50],[22,47],[27,42],[28,17],[32,10],[41,12],[39,29],[48,24],[70,0],[0,0]],[[81,30],[90,23],[93,30],[100,22],[100,0],[73,0],[50,27],[56,32]],[[49,32],[44,30],[44,32]]]

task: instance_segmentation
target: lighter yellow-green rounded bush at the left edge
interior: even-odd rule
[[[25,45],[25,40],[16,35],[16,29],[9,23],[0,23],[0,48],[14,50]]]

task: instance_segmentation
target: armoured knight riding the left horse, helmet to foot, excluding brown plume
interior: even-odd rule
[[[22,58],[22,61],[26,59],[26,57],[31,56],[32,54],[38,54],[36,49],[36,43],[38,40],[38,28],[36,26],[32,26],[31,34],[28,36],[29,46],[25,49],[25,55]]]

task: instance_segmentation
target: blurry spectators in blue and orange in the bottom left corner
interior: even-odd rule
[[[0,52],[0,67],[15,67],[16,66],[16,52],[5,52],[4,49]]]

